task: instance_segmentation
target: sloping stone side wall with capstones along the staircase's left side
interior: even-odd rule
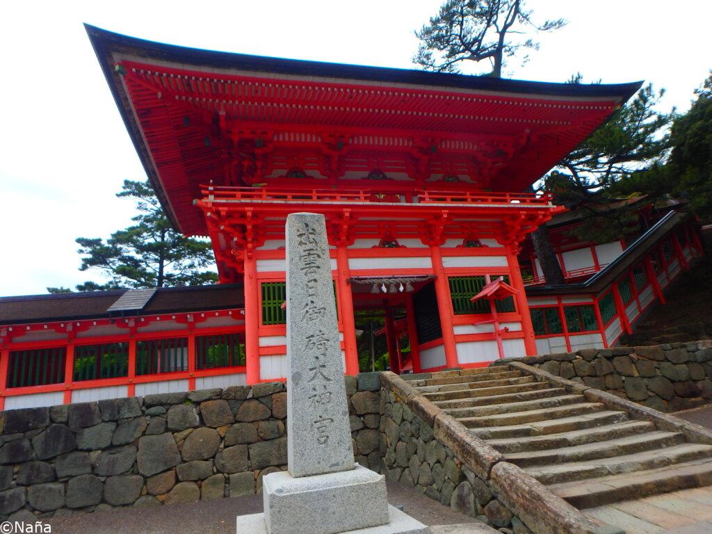
[[[598,527],[528,473],[504,461],[412,384],[391,372],[382,374],[382,384],[381,451],[387,478],[502,532],[613,532]]]

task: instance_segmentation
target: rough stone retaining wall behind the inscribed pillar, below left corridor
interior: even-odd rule
[[[379,373],[346,377],[355,459],[378,469]],[[0,519],[260,493],[286,470],[281,382],[0,414]]]

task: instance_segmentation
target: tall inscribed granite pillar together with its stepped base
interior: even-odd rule
[[[237,534],[426,533],[354,462],[324,216],[290,214],[286,238],[289,471],[264,476],[264,513]]]

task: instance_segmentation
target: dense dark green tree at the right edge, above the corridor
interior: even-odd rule
[[[697,99],[671,131],[672,152],[666,173],[676,191],[704,221],[712,220],[712,75],[695,91]]]

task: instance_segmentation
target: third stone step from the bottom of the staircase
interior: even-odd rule
[[[506,461],[522,468],[547,464],[564,464],[595,459],[624,456],[652,449],[662,449],[685,442],[679,432],[651,431],[645,434],[609,439],[583,445],[548,449],[547,451],[525,451],[505,454]]]

